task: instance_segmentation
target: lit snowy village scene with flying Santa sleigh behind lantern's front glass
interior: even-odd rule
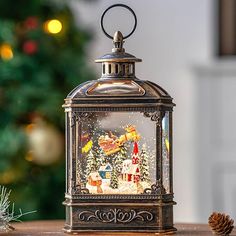
[[[78,182],[92,194],[142,194],[156,182],[156,123],[141,112],[100,112],[81,127]]]

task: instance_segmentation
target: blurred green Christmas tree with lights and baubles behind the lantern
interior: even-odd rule
[[[27,219],[63,218],[63,99],[93,79],[69,1],[0,1],[0,184]]]

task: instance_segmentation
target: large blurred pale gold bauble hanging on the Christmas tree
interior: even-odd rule
[[[25,157],[39,165],[50,165],[58,161],[64,150],[61,133],[41,117],[26,126],[29,151]]]

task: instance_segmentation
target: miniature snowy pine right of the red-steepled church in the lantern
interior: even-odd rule
[[[142,146],[142,150],[140,154],[140,180],[147,181],[147,182],[150,181],[148,153],[147,153],[147,147],[145,144]]]

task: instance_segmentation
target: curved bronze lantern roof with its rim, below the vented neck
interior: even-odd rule
[[[135,79],[99,79],[87,81],[72,90],[64,107],[95,106],[168,106],[171,96],[151,81]]]

